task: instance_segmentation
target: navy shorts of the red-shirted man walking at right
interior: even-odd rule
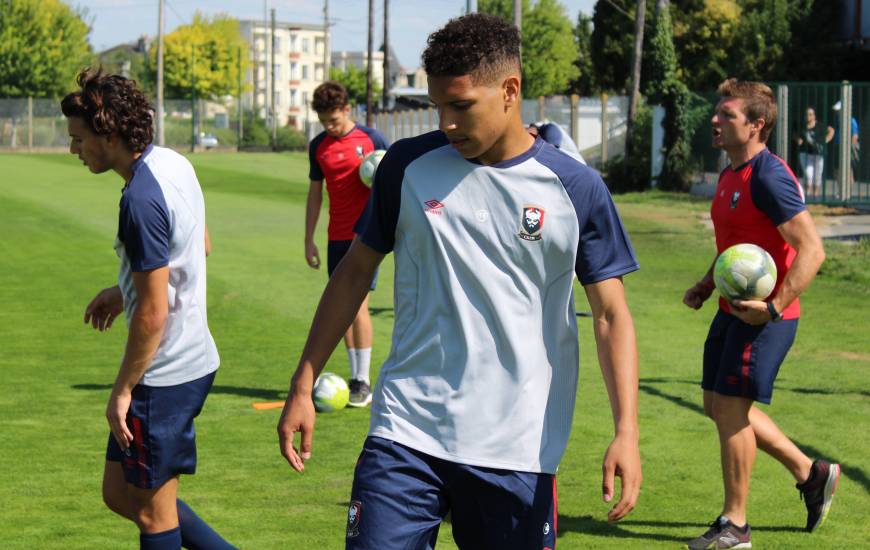
[[[719,310],[704,343],[701,387],[770,403],[773,381],[797,334],[797,319],[749,325]]]

